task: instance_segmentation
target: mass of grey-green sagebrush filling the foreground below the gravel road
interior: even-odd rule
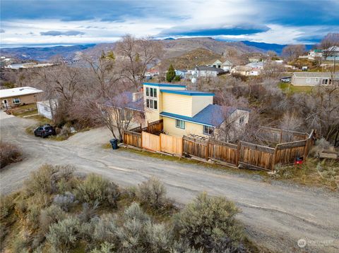
[[[24,189],[1,198],[1,233],[11,226],[8,217],[23,225],[5,243],[13,252],[244,252],[232,202],[204,193],[177,211],[156,178],[121,195],[98,175],[79,179],[69,166],[44,165]]]

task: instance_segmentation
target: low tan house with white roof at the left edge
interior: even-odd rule
[[[0,90],[1,108],[8,109],[13,106],[34,104],[38,100],[38,95],[42,92],[42,90],[32,87]]]

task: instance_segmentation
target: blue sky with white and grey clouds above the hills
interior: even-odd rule
[[[339,0],[1,0],[1,47],[214,37],[319,42],[339,31]]]

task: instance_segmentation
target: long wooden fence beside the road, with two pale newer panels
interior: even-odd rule
[[[154,128],[157,131],[158,128]],[[279,140],[284,133],[280,132]],[[301,135],[300,135],[301,136]],[[295,134],[293,138],[299,138]],[[227,163],[230,166],[273,170],[278,163],[290,165],[295,159],[304,160],[314,144],[315,133],[311,132],[304,140],[296,140],[267,147],[249,142],[240,141],[238,144],[220,142],[218,140],[199,140],[194,137],[174,137],[169,135],[153,135],[150,132],[124,131],[124,143],[148,149],[154,152],[196,156],[205,160]]]

